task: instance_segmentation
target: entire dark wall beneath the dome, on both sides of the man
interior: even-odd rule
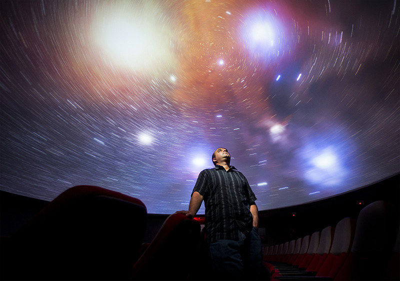
[[[398,208],[399,178],[400,175],[397,174],[358,190],[317,202],[260,211],[259,226],[266,230],[263,242],[267,245],[285,242],[320,231],[328,225],[334,226],[344,217],[356,218],[363,207],[376,200],[392,202]],[[46,204],[47,201],[0,191],[0,234],[12,234]],[[167,216],[147,216],[143,242],[150,242],[154,238]]]

